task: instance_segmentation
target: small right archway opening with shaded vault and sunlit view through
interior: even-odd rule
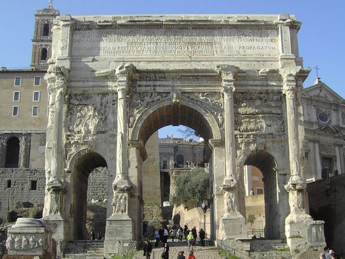
[[[246,200],[251,200],[252,203],[256,203],[256,206],[250,206],[252,207],[251,212],[248,211],[248,205],[250,204],[248,204],[248,202],[246,203],[248,234],[255,234],[257,237],[259,237],[261,234],[261,236],[264,236],[266,239],[279,239],[281,238],[279,237],[279,231],[281,230],[281,215],[278,213],[279,198],[277,196],[277,172],[275,170],[275,158],[268,152],[259,151],[250,154],[244,165],[244,175],[246,177],[245,183],[247,184],[246,191],[247,195],[249,196],[249,198],[247,197]],[[263,176],[262,179],[260,178],[260,173]],[[253,186],[254,182],[257,182],[254,184],[257,186],[257,188]],[[248,187],[250,184],[251,187]],[[264,195],[261,195],[261,193],[258,194],[262,184],[264,186]],[[252,189],[253,193],[251,193]],[[262,206],[264,206],[264,216],[260,213],[260,211],[263,211]],[[257,232],[252,233],[253,231]],[[264,234],[262,234],[262,231],[264,231]]]

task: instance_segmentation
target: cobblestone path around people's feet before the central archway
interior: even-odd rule
[[[188,256],[188,244],[186,241],[183,242],[169,242],[169,259],[176,259],[179,255],[179,251],[184,251],[184,256]],[[152,242],[152,252],[153,255],[151,255],[150,259],[159,259],[161,258],[161,253],[163,253],[163,245],[160,243],[159,247],[155,247],[155,243]],[[195,246],[195,249],[193,249],[194,255],[196,259],[222,259],[221,255],[219,254],[219,251],[215,247],[201,247],[201,246]],[[144,251],[141,248],[137,253],[135,253],[135,256],[133,256],[132,259],[144,259],[146,258],[144,256]]]

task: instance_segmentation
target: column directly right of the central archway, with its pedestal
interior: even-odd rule
[[[222,78],[224,96],[224,152],[225,152],[225,177],[221,185],[224,194],[224,216],[221,218],[220,238],[246,237],[246,219],[239,212],[238,184],[236,172],[236,138],[235,138],[235,112],[233,92],[235,91],[235,74],[238,68],[226,65],[219,66]]]

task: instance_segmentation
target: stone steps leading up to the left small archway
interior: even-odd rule
[[[68,259],[103,259],[103,240],[75,240],[68,242],[63,258]]]

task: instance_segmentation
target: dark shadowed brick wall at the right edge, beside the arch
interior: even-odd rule
[[[345,174],[308,183],[310,214],[314,220],[324,220],[328,247],[345,256]]]

